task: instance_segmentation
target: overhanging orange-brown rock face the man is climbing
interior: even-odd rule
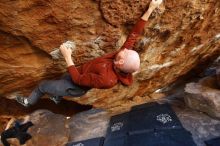
[[[49,53],[66,40],[76,42],[77,65],[115,51],[149,2],[1,1],[0,95],[27,95],[41,80],[58,78],[66,71],[65,62],[52,60]],[[219,0],[165,1],[136,44],[142,65],[135,83],[92,89],[74,100],[113,113],[150,101],[149,94],[220,54],[219,7]]]

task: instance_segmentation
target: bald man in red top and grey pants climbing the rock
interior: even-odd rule
[[[135,24],[119,51],[91,60],[77,68],[71,58],[72,50],[62,44],[60,51],[67,63],[69,74],[60,80],[40,83],[28,98],[17,96],[17,101],[27,107],[35,104],[40,97],[47,93],[51,100],[59,103],[63,96],[82,96],[91,88],[107,89],[118,82],[127,86],[131,85],[132,73],[138,71],[140,67],[139,55],[131,49],[143,31],[149,16],[161,2],[162,0],[151,1],[148,10]]]

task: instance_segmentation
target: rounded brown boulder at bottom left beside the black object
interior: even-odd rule
[[[69,128],[66,117],[46,110],[39,110],[30,115],[33,122],[29,130],[32,139],[27,141],[28,146],[63,146],[68,142]]]

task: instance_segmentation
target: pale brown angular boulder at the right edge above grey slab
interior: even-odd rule
[[[198,111],[220,119],[220,88],[216,77],[206,77],[199,83],[189,83],[185,91],[186,104]]]

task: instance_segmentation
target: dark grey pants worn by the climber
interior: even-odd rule
[[[88,91],[88,88],[74,84],[69,74],[65,74],[60,80],[45,80],[36,87],[28,97],[28,103],[35,104],[43,95],[63,97],[79,97]]]

